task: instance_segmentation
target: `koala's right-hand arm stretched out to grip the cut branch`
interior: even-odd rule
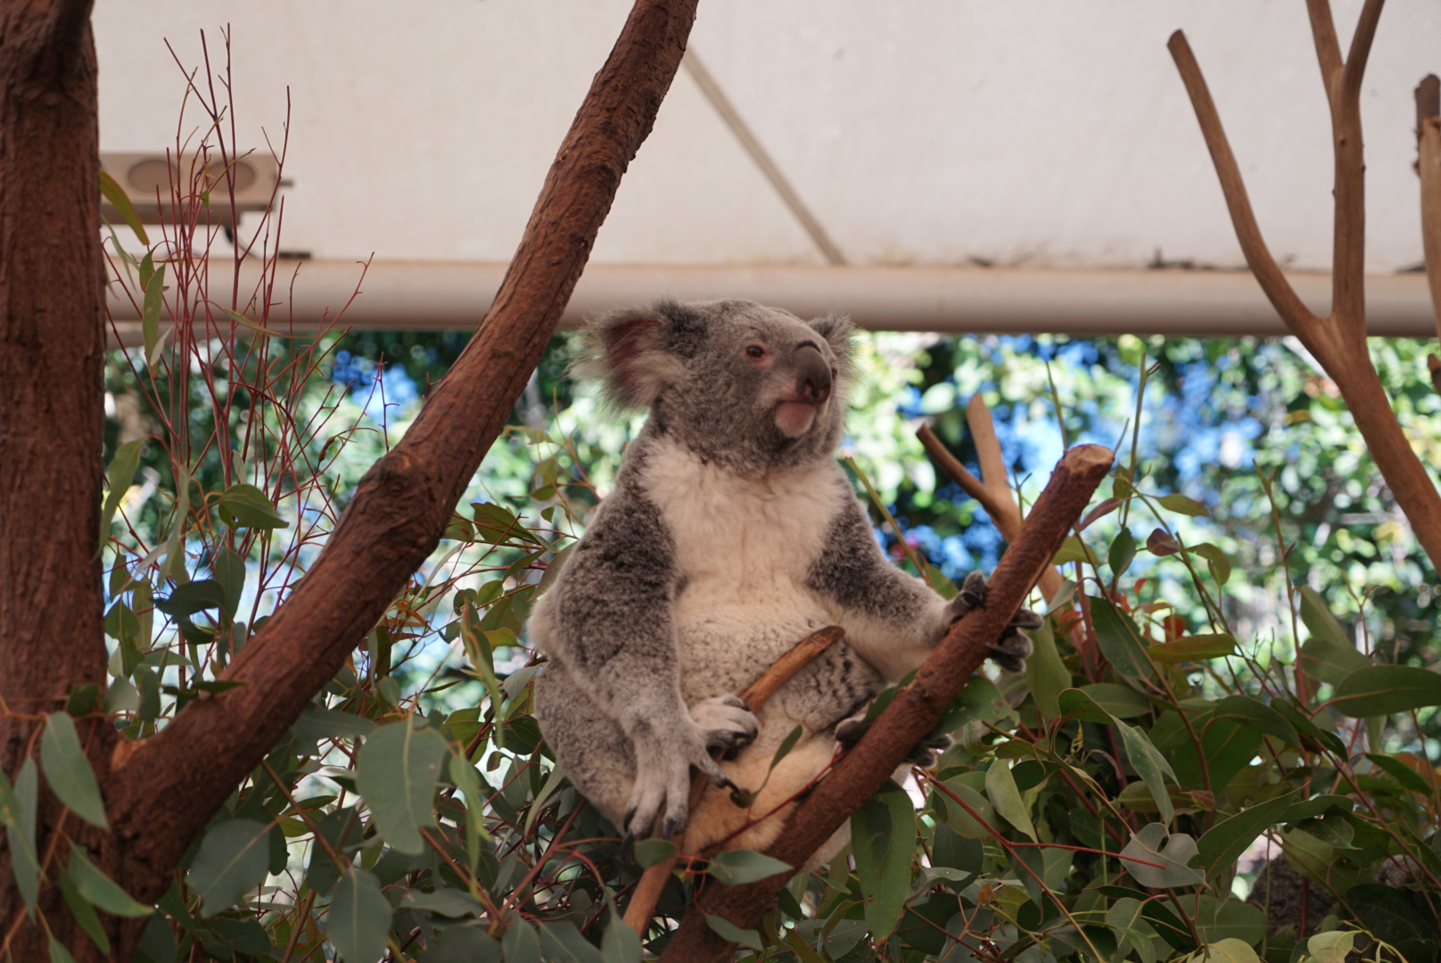
[[[807,582],[836,610],[846,639],[883,676],[898,680],[919,666],[957,618],[986,598],[986,580],[971,572],[955,598],[945,601],[919,578],[885,556],[860,502],[847,497],[831,519],[821,554]],[[996,662],[1019,670],[1030,640],[1016,629],[1035,629],[1039,617],[1022,610],[1012,629],[991,646]]]

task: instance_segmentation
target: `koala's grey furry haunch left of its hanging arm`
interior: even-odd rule
[[[635,784],[635,753],[620,722],[553,657],[536,676],[535,695],[536,721],[561,768],[602,816],[621,827]]]

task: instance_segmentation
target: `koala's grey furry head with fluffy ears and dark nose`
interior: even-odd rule
[[[617,408],[746,476],[829,457],[840,441],[850,321],[754,301],[657,301],[594,321],[578,373]]]

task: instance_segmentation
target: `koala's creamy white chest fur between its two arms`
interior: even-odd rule
[[[676,542],[674,618],[686,701],[736,692],[826,624],[806,581],[852,497],[834,463],[742,479],[669,444],[644,487]],[[739,644],[738,644],[739,643]]]

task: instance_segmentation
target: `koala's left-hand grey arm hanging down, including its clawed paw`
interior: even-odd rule
[[[686,708],[672,616],[677,581],[674,542],[659,510],[623,486],[536,613],[537,642],[565,660],[568,675],[633,744],[635,784],[621,827],[627,836],[650,835],[657,815],[667,836],[683,829],[690,767],[729,784],[708,748],[755,735],[755,719],[738,699],[710,706],[712,715],[726,716],[710,728]]]

